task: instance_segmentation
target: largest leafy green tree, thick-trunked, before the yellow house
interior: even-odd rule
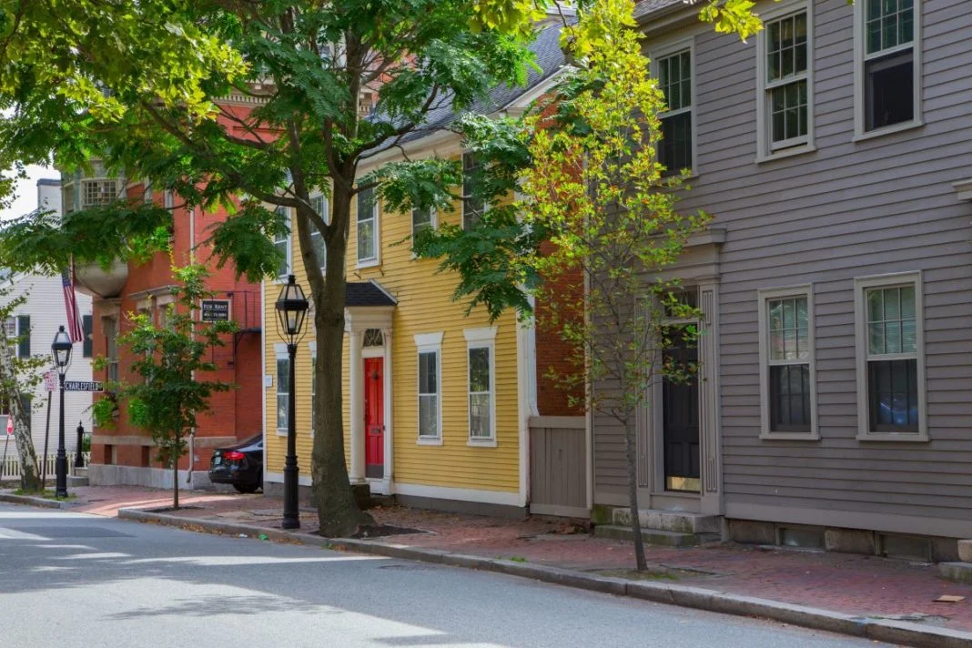
[[[491,87],[522,80],[523,39],[477,19],[468,0],[42,5],[0,4],[0,166],[53,154],[70,170],[96,157],[175,190],[191,208],[226,206],[231,215],[206,243],[213,262],[233,262],[253,280],[277,273],[270,238],[288,223],[274,208],[291,211],[318,348],[314,498],[323,533],[352,532],[368,520],[348,484],[341,407],[351,203],[370,188],[358,165],[438,106],[466,109]],[[369,116],[359,112],[363,91],[377,97]],[[317,211],[317,191],[329,196],[329,214]],[[137,200],[99,209],[114,214],[118,231],[90,210],[63,223],[17,222],[0,236],[0,257],[55,268],[73,252],[108,263],[146,249],[169,219]]]

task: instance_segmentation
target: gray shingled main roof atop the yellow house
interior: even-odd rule
[[[535,54],[538,69],[529,69],[526,85],[498,85],[486,97],[475,100],[464,112],[478,115],[495,113],[555,74],[565,62],[564,52],[560,49],[560,24],[550,25],[540,31],[530,50]],[[462,114],[453,110],[451,96],[442,97],[429,111],[425,123],[402,137],[399,142],[414,141],[435,131],[444,130]],[[391,144],[388,142],[378,147],[378,150],[388,148]]]

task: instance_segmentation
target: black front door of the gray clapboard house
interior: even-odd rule
[[[672,332],[667,361],[686,367],[698,362],[696,341]],[[700,491],[699,484],[699,382],[693,372],[685,381],[662,382],[662,433],[665,440],[665,490]]]

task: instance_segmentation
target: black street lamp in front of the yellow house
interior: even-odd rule
[[[284,529],[300,529],[300,514],[297,509],[297,451],[295,432],[295,378],[294,358],[297,354],[297,342],[303,328],[304,318],[307,316],[307,297],[297,286],[294,275],[287,277],[287,284],[280,290],[277,297],[278,332],[283,329],[287,336],[287,355],[290,358],[290,386],[287,403],[287,458],[284,460]]]

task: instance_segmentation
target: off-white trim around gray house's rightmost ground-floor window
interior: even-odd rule
[[[857,439],[860,441],[928,441],[928,401],[925,390],[925,350],[924,350],[924,296],[921,289],[921,271],[897,272],[872,277],[854,277],[853,315],[854,347],[857,359]],[[918,432],[873,432],[871,431],[870,412],[868,411],[867,385],[867,305],[864,292],[871,288],[915,287],[915,347],[918,358]],[[902,358],[911,359],[911,354]],[[891,358],[891,357],[888,357]]]

